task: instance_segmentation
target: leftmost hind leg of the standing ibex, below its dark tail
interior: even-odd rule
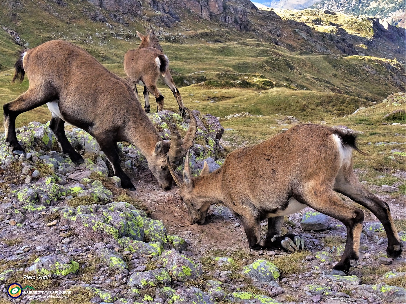
[[[15,133],[15,119],[17,116],[45,105],[45,103],[53,101],[55,97],[55,94],[30,87],[27,92],[18,96],[14,101],[3,105],[6,145],[11,147],[13,152],[24,153],[24,149],[19,144]]]

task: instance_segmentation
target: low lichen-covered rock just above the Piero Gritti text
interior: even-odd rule
[[[26,268],[26,271],[32,271],[44,275],[66,276],[76,273],[79,270],[79,263],[73,261],[66,255],[47,255],[39,257],[34,263]]]

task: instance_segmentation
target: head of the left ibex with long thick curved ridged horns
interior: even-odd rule
[[[196,138],[197,120],[192,111],[186,107],[185,109],[189,113],[190,124],[184,139],[182,140],[175,124],[164,117],[160,117],[166,122],[169,131],[171,131],[171,140],[158,141],[155,144],[152,156],[148,159],[149,169],[164,190],[171,188],[173,180],[171,170],[173,171],[181,165],[186,152],[193,146],[193,141]],[[167,159],[169,159],[169,162],[167,162]]]

